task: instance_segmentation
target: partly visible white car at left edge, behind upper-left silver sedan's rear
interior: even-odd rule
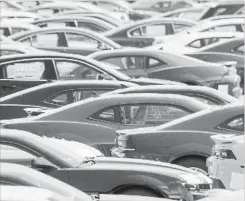
[[[35,30],[38,27],[32,24],[23,24],[16,19],[2,20],[0,24],[0,32],[2,35],[8,37],[15,33],[22,31]]]

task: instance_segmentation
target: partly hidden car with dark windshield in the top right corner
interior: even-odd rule
[[[238,1],[216,1],[205,4],[198,4],[190,8],[180,8],[161,14],[161,17],[178,17],[191,20],[204,20],[212,18],[226,18],[236,14],[242,15],[240,10],[244,10],[244,3]],[[233,18],[233,17],[231,17]]]

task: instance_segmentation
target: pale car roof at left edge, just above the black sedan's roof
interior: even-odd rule
[[[0,56],[15,55],[15,54],[31,54],[41,52],[33,47],[24,45],[22,43],[0,43]]]

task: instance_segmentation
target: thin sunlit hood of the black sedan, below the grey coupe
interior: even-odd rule
[[[160,79],[152,79],[152,78],[137,78],[137,79],[130,79],[130,82],[139,84],[139,85],[186,85],[180,82],[174,82],[170,80],[160,80]]]

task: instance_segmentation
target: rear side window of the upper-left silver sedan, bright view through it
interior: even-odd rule
[[[39,32],[20,41],[37,49],[47,51],[65,52],[65,47],[67,47],[67,42],[62,32]]]

